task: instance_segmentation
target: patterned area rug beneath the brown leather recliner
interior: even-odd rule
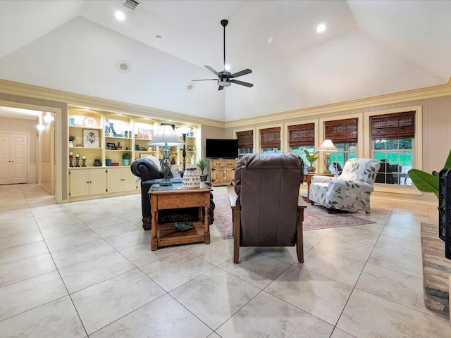
[[[232,236],[232,209],[227,195],[214,196],[214,226],[223,239]],[[362,225],[376,223],[352,215],[352,213],[328,213],[323,206],[307,206],[304,210],[303,230],[324,229],[326,227],[345,227],[349,225]]]

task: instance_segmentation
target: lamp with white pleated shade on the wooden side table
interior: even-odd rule
[[[169,171],[171,170],[172,151],[168,149],[168,146],[184,144],[180,137],[175,134],[173,125],[162,123],[155,137],[147,144],[149,146],[164,146],[164,149],[161,150],[161,154],[163,154],[163,160],[161,161],[163,180],[160,182],[160,185],[172,185],[172,182],[168,179]]]

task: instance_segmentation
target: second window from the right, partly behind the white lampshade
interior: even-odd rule
[[[337,153],[330,154],[335,168],[343,167],[347,160],[357,157],[357,118],[326,121],[324,127],[325,139],[331,139],[338,149]]]

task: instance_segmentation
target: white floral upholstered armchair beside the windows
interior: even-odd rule
[[[370,212],[369,196],[381,165],[373,158],[352,158],[339,177],[311,177],[310,203],[330,209]]]

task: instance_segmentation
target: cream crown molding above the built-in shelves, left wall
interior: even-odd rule
[[[111,111],[113,113],[127,113],[129,115],[146,116],[161,120],[173,120],[177,123],[190,123],[199,125],[211,125],[214,127],[224,127],[224,122],[209,118],[199,118],[197,116],[175,113],[173,111],[164,111],[162,109],[139,106],[136,104],[127,104],[121,101],[110,99],[101,99],[99,97],[88,96],[84,94],[75,94],[64,92],[58,89],[39,87],[32,84],[13,82],[0,79],[0,93],[26,96],[33,99],[47,101],[58,101],[70,106],[86,106],[95,110]]]

